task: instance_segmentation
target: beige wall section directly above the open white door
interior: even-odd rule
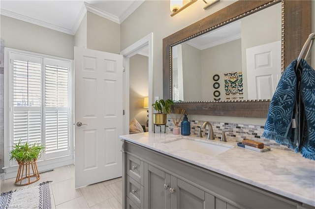
[[[120,50],[120,25],[110,20],[87,13],[87,48],[119,53]]]

